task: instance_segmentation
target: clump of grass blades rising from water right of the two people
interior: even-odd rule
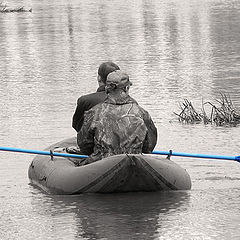
[[[240,123],[240,111],[237,110],[229,95],[220,93],[220,98],[216,99],[216,104],[202,101],[202,108],[198,112],[192,103],[184,99],[181,103],[180,113],[175,113],[178,120],[183,123],[200,123],[215,124],[216,126],[231,125],[236,126]]]

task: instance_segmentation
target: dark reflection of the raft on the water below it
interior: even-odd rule
[[[32,198],[36,211],[56,220],[65,216],[76,238],[155,239],[164,224],[159,219],[186,208],[189,193],[46,195],[42,200]]]

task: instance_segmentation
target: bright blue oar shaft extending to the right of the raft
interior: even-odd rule
[[[167,151],[153,151],[152,154],[169,155]],[[240,162],[240,156],[222,156],[222,155],[208,155],[208,154],[194,154],[194,153],[182,153],[171,152],[172,156],[192,157],[192,158],[209,158],[209,159],[222,159],[222,160],[234,160]]]

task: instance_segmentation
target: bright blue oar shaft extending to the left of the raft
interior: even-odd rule
[[[68,153],[58,153],[50,151],[38,151],[31,149],[22,149],[22,148],[12,148],[12,147],[0,147],[0,151],[10,151],[10,152],[20,152],[20,153],[30,153],[30,154],[40,154],[40,155],[52,155],[56,157],[71,157],[71,158],[87,158],[86,155],[78,154],[68,154]]]

